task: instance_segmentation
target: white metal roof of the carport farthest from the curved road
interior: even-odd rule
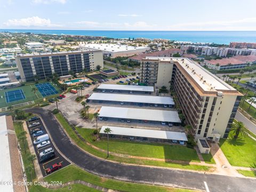
[[[154,86],[101,84],[98,89],[154,92]]]

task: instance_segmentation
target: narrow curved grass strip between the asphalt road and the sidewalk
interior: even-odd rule
[[[106,153],[102,153],[101,151],[94,149],[90,147],[89,145],[86,145],[81,139],[78,138],[76,133],[71,129],[65,118],[62,117],[61,114],[56,114],[55,115],[61,125],[64,127],[64,129],[67,131],[69,134],[69,137],[82,149],[87,151],[90,154],[93,154],[95,156],[101,157],[101,158],[107,158]],[[89,142],[89,141],[88,141]],[[139,144],[138,144],[139,145]],[[193,150],[193,149],[191,149]],[[150,151],[150,150],[149,150]],[[150,154],[151,152],[149,152]],[[169,152],[166,152],[168,154]],[[172,152],[170,152],[172,153]],[[178,154],[180,151],[178,151]],[[193,153],[191,153],[193,154]],[[176,154],[177,155],[177,154]],[[193,155],[194,157],[194,155]],[[153,165],[153,166],[163,166],[163,167],[174,167],[174,168],[179,168],[179,169],[190,169],[190,170],[198,170],[198,171],[209,171],[210,167],[208,166],[201,166],[201,165],[189,165],[188,163],[186,164],[178,164],[178,163],[170,163],[170,162],[165,162],[165,161],[149,161],[149,160],[142,160],[142,159],[137,159],[137,158],[125,158],[125,157],[116,157],[113,155],[110,155],[109,160],[113,160],[116,162],[123,162],[123,163],[132,163],[132,164],[144,164],[144,165]],[[198,157],[194,159],[195,161],[199,161]]]

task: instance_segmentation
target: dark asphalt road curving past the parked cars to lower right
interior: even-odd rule
[[[93,157],[85,151],[79,149],[69,140],[63,132],[59,123],[53,115],[42,108],[28,109],[32,113],[43,117],[45,125],[54,138],[57,148],[71,162],[82,167],[84,170],[100,175],[102,177],[115,178],[125,181],[141,183],[151,183],[163,186],[174,186],[198,190],[206,190],[205,183],[209,191],[255,191],[256,180],[246,178],[226,177],[214,174],[202,174],[190,171],[178,171],[153,167],[123,165],[103,161]],[[149,151],[150,153],[150,151]]]

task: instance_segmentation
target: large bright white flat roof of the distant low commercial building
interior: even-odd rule
[[[108,52],[121,52],[121,51],[133,51],[133,50],[141,50],[146,51],[146,49],[150,49],[149,47],[134,47],[128,45],[117,45],[117,44],[85,44],[82,45],[88,49],[95,49],[101,51],[108,51]]]

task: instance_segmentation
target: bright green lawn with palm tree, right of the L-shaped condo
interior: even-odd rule
[[[220,139],[220,148],[227,157],[229,163],[233,166],[254,167],[256,163],[256,141],[249,136],[236,140],[231,137],[233,132],[230,131],[231,139]]]

